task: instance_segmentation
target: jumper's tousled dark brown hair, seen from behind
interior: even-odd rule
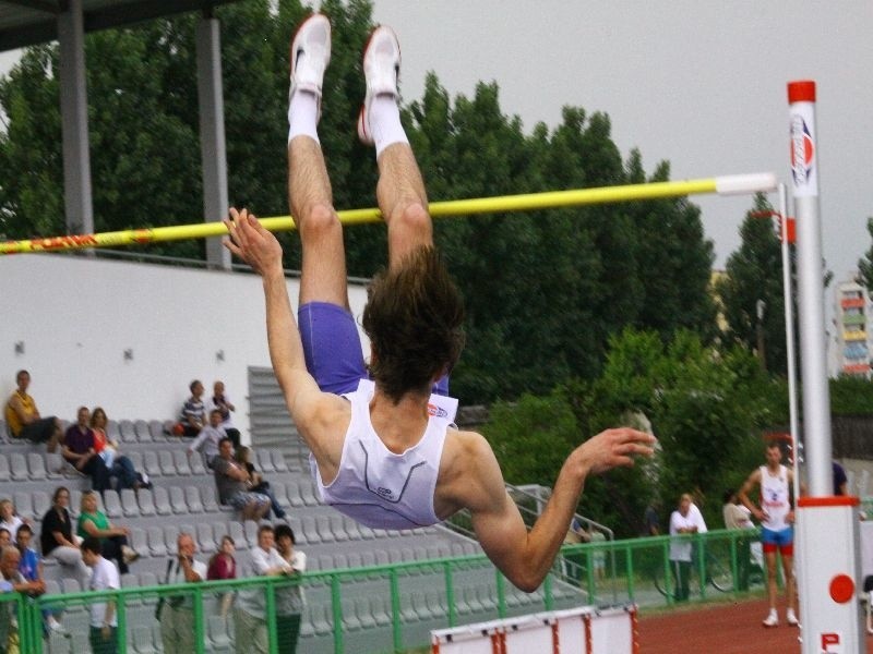
[[[432,246],[381,271],[367,291],[362,326],[372,344],[370,374],[395,402],[429,392],[464,349],[464,301]]]

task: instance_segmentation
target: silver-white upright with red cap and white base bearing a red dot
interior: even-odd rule
[[[858,602],[858,498],[834,494],[825,352],[824,268],[818,217],[815,82],[788,84],[797,218],[803,440],[810,496],[797,501],[803,654],[866,651]]]

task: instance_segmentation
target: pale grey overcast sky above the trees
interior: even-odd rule
[[[824,254],[837,279],[871,244],[870,0],[374,0],[374,19],[399,35],[405,100],[434,71],[452,96],[495,81],[528,132],[555,126],[564,105],[605,111],[623,156],[638,147],[649,172],[667,159],[674,180],[788,181],[786,83],[815,80]],[[14,58],[0,53],[0,73]],[[751,199],[694,202],[722,267]]]

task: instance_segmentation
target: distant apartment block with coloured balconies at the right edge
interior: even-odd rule
[[[870,377],[870,296],[856,281],[844,281],[836,288],[834,317],[836,373]]]

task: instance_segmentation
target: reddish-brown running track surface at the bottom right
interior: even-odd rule
[[[786,626],[785,613],[779,627],[766,629],[766,600],[644,615],[639,654],[799,654],[800,630]],[[873,654],[873,637],[866,637],[866,652]]]

